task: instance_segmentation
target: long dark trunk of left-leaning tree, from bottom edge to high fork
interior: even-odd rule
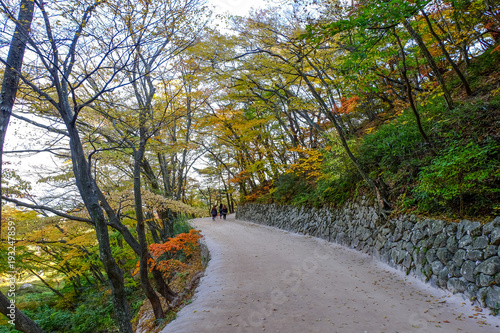
[[[74,91],[70,89],[70,83],[68,82],[68,78],[71,76],[71,72],[73,70],[73,62],[70,62],[69,66],[61,63],[58,49],[59,44],[54,39],[52,28],[50,27],[50,24],[48,24],[48,22],[50,22],[50,19],[49,14],[45,11],[44,8],[45,3],[37,2],[37,4],[46,22],[45,28],[47,36],[49,37],[51,42],[50,52],[53,54],[53,57],[50,64],[45,63],[45,66],[50,73],[51,84],[53,85],[57,93],[56,99],[58,100],[58,102],[55,102],[55,100],[51,99],[51,97],[46,95],[41,89],[36,88],[35,91],[37,91],[41,96],[44,96],[44,98],[58,110],[61,119],[64,121],[69,137],[69,148],[71,151],[71,162],[75,182],[80,196],[85,204],[85,208],[89,213],[92,222],[94,223],[96,238],[99,245],[99,257],[111,283],[116,323],[118,324],[119,331],[121,333],[133,333],[132,325],[130,323],[130,310],[126,297],[127,295],[125,293],[123,272],[112,255],[108,225],[106,223],[103,208],[99,204],[98,186],[94,178],[92,177],[90,161],[87,160],[87,156],[85,155],[85,151],[83,149],[83,144],[79,137],[78,128],[76,126],[78,112],[81,110],[82,105],[77,105],[75,103],[74,109],[70,106],[70,101],[76,102],[74,98],[70,97],[70,93],[72,94],[74,93]],[[99,4],[99,2],[91,4],[85,10],[85,13],[82,17],[82,22],[86,22],[86,20],[89,19],[89,17],[92,15],[93,11]],[[72,42],[73,46],[76,45],[83,26],[84,23],[80,25],[80,30],[77,30],[75,32]],[[76,49],[74,47],[71,47],[68,50],[66,59],[68,61],[74,60],[74,57],[76,57],[75,52]]]

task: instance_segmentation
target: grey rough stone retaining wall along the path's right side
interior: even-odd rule
[[[236,218],[335,242],[500,310],[500,217],[482,225],[401,216],[384,221],[364,200],[342,209],[245,204]]]

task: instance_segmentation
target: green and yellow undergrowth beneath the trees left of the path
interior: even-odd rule
[[[191,226],[186,219],[179,219],[174,224],[176,235],[189,233]],[[181,292],[189,282],[189,277],[202,271],[202,258],[199,247],[196,253],[190,256],[178,255],[185,267],[170,272],[169,284],[175,292]],[[125,272],[133,271],[136,260],[129,263],[122,262]],[[144,304],[144,294],[141,289],[138,276],[126,275],[126,292],[129,306],[137,323],[140,317],[140,309]],[[27,316],[33,319],[46,332],[62,333],[105,333],[116,332],[118,328],[114,319],[114,308],[112,303],[111,288],[108,284],[98,284],[92,280],[82,281],[82,287],[75,293],[75,289],[64,279],[57,275],[47,280],[49,284],[57,286],[63,297],[56,295],[47,289],[40,281],[30,280],[31,286],[16,291],[16,305]],[[24,281],[28,282],[28,281]],[[22,282],[21,282],[22,283]],[[19,286],[21,285],[19,283]],[[0,285],[0,290],[6,292],[7,287]],[[189,295],[187,295],[189,296]],[[186,300],[183,301],[184,303]],[[182,304],[181,304],[182,305]],[[178,309],[170,309],[166,319],[161,323],[153,322],[152,327],[164,326],[169,320],[175,318]],[[0,318],[0,333],[19,332],[7,323],[8,318]]]

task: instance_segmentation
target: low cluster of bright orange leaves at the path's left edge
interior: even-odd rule
[[[157,268],[163,274],[169,275],[179,268],[186,267],[183,260],[196,251],[199,246],[198,240],[202,237],[200,230],[191,229],[189,233],[169,238],[163,244],[151,244],[149,251],[153,259],[148,260],[150,269]],[[138,269],[134,274],[137,272]]]

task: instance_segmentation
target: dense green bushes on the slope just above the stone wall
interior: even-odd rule
[[[411,110],[378,115],[379,124],[361,125],[351,149],[362,167],[386,189],[392,209],[442,218],[487,220],[500,215],[500,52],[485,52],[467,75],[475,91],[465,97],[449,77],[457,106],[448,111],[438,93],[418,106],[425,144]],[[370,195],[354,164],[334,136],[322,150],[320,176],[290,172],[265,184],[258,202],[338,206]]]

